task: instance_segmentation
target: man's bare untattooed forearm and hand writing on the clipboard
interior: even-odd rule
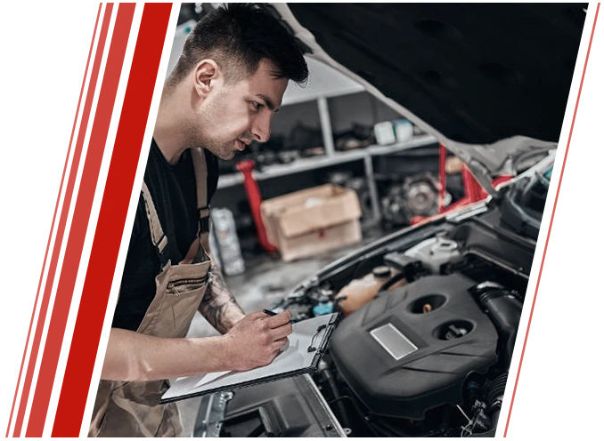
[[[156,381],[201,373],[248,371],[268,365],[287,343],[291,313],[243,317],[229,333],[216,337],[166,339],[108,328],[101,342],[102,380]]]

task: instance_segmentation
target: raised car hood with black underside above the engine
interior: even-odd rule
[[[306,56],[434,135],[491,194],[519,156],[561,146],[589,2],[270,5]]]

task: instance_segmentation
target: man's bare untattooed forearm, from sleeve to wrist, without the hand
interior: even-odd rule
[[[231,370],[224,336],[203,339],[162,339],[109,328],[101,342],[102,380],[155,381]]]

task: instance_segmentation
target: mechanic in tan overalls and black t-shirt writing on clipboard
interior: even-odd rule
[[[290,313],[245,315],[209,256],[209,201],[218,159],[266,142],[288,82],[307,76],[295,40],[257,4],[221,5],[187,37],[150,116],[88,437],[182,437],[176,405],[159,405],[167,379],[267,365],[286,344]],[[218,336],[186,338],[196,310]]]

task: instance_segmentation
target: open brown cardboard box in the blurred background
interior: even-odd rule
[[[269,242],[283,261],[354,245],[363,239],[361,204],[355,190],[337,185],[291,193],[261,205]]]

